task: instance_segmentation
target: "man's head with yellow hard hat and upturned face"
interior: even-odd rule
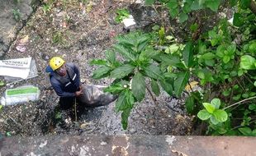
[[[64,59],[61,57],[52,57],[50,59],[50,67],[53,71],[56,71],[59,76],[65,76],[67,74]]]

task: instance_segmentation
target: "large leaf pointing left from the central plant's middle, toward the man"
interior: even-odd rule
[[[121,67],[117,67],[115,70],[111,71],[111,78],[121,79],[125,76],[128,76],[130,72],[135,69],[134,66],[130,64],[123,65]]]

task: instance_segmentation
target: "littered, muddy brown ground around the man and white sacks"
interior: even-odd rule
[[[169,97],[164,91],[157,98],[157,103],[150,99],[148,93],[145,100],[136,103],[126,131],[121,128],[121,114],[114,111],[115,102],[101,108],[78,110],[77,121],[73,109],[59,111],[59,98],[50,88],[49,77],[45,73],[50,57],[61,56],[66,62],[77,64],[83,83],[110,85],[111,79],[91,78],[96,67],[90,66],[89,61],[103,58],[104,51],[115,43],[115,36],[126,33],[124,25],[116,23],[115,11],[117,8],[130,7],[131,3],[134,2],[97,0],[84,4],[59,0],[50,7],[50,11],[44,12],[42,6],[38,7],[3,59],[33,57],[39,76],[3,86],[0,91],[3,93],[7,88],[35,85],[40,88],[40,100],[3,107],[0,132],[22,136],[190,135],[192,117],[184,111],[184,100]],[[157,17],[157,14],[154,16]],[[144,22],[142,27],[154,22],[157,21]],[[17,44],[26,35],[29,37],[26,51],[19,52]]]

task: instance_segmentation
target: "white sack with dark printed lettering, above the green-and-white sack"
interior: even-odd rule
[[[24,80],[37,76],[36,62],[31,57],[0,60],[0,76],[7,76],[7,80],[13,77]]]

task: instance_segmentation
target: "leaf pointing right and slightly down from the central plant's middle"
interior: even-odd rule
[[[156,65],[149,65],[148,67],[142,67],[145,72],[145,76],[149,76],[155,80],[164,79],[163,73],[160,71],[160,68]]]

